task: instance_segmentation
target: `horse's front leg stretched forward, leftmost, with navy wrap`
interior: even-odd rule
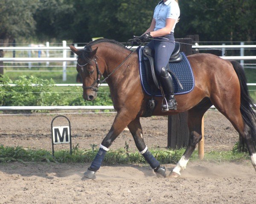
[[[133,118],[128,111],[120,111],[117,113],[111,129],[100,144],[99,151],[88,170],[84,173],[82,180],[85,179],[85,177],[90,179],[96,178],[96,171],[99,170],[108,148],[132,120]]]

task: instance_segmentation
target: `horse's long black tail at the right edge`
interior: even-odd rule
[[[250,97],[249,90],[247,87],[247,79],[245,77],[244,69],[237,61],[230,61],[233,65],[233,68],[236,71],[236,74],[239,78],[240,83],[240,92],[241,92],[241,105],[240,111],[244,122],[250,127],[251,134],[254,141],[254,146],[256,146],[256,102]],[[240,138],[240,150],[244,151],[244,141]]]

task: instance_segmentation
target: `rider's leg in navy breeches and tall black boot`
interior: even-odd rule
[[[169,42],[157,41],[154,43],[155,50],[155,67],[156,73],[160,79],[161,84],[163,85],[163,90],[167,95],[168,107],[166,104],[162,106],[163,111],[168,111],[169,109],[177,109],[177,102],[174,98],[174,88],[172,84],[172,77],[166,71],[166,66],[169,63],[169,59],[172,55],[172,52],[175,48],[175,40],[173,34],[165,36],[166,39],[169,39]],[[161,38],[160,38],[161,39]]]

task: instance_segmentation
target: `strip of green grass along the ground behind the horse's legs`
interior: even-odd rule
[[[91,149],[80,149],[78,145],[73,147],[72,154],[69,150],[55,151],[55,156],[47,150],[24,149],[23,147],[5,147],[0,145],[0,162],[10,161],[36,161],[36,162],[58,162],[58,163],[84,163],[91,162],[96,156],[98,149],[92,145]],[[180,150],[160,150],[151,149],[153,156],[161,164],[175,164],[183,155],[185,149]],[[244,161],[250,157],[245,153],[233,151],[210,151],[205,153],[205,161]],[[190,161],[198,160],[198,152],[192,154]],[[110,150],[104,161],[109,164],[147,164],[143,156],[138,151],[131,151],[128,147]]]

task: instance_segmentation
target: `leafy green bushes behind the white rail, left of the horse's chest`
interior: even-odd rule
[[[52,93],[50,90],[55,84],[52,79],[20,76],[12,81],[6,75],[0,79],[1,106],[112,105],[110,94],[99,94],[93,102],[84,101],[79,87],[67,88],[62,93]],[[9,86],[10,83],[17,85]]]

